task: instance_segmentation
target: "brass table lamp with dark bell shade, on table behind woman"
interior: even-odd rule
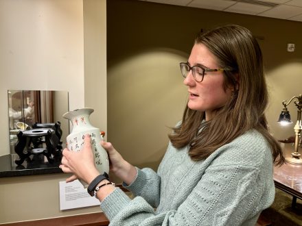
[[[297,106],[298,109],[298,116],[297,116],[297,123],[294,125],[294,152],[291,153],[291,156],[286,158],[286,162],[292,163],[292,164],[302,164],[302,157],[301,153],[299,153],[299,138],[301,138],[301,130],[302,130],[302,124],[301,124],[301,108],[302,108],[302,95],[299,95],[299,97],[292,97],[289,101],[282,101],[283,104],[283,110],[281,111],[281,114],[279,116],[278,123],[281,125],[287,125],[288,123],[292,123],[290,119],[290,112],[288,111],[288,108],[286,108],[291,102],[294,100],[294,105]]]

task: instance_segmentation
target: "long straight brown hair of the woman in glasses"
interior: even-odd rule
[[[172,145],[176,148],[189,145],[191,160],[204,160],[222,145],[256,129],[268,141],[274,162],[283,164],[281,147],[268,132],[264,115],[268,90],[257,40],[245,27],[225,25],[198,34],[195,43],[205,45],[216,56],[220,68],[231,69],[224,71],[223,86],[224,89],[233,87],[234,92],[227,104],[217,109],[216,116],[207,122],[202,123],[205,112],[186,107],[181,125],[174,127],[174,133],[169,135]]]

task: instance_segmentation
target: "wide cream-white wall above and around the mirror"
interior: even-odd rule
[[[9,153],[7,90],[67,90],[84,106],[82,0],[0,1],[0,155]]]

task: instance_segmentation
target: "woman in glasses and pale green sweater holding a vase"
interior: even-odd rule
[[[181,73],[189,99],[157,173],[135,168],[102,142],[111,172],[135,199],[102,179],[95,190],[101,208],[111,225],[255,225],[275,197],[273,162],[284,160],[266,125],[257,40],[238,25],[199,34]],[[73,173],[67,181],[95,183],[89,136],[82,151],[63,155],[60,168]]]

